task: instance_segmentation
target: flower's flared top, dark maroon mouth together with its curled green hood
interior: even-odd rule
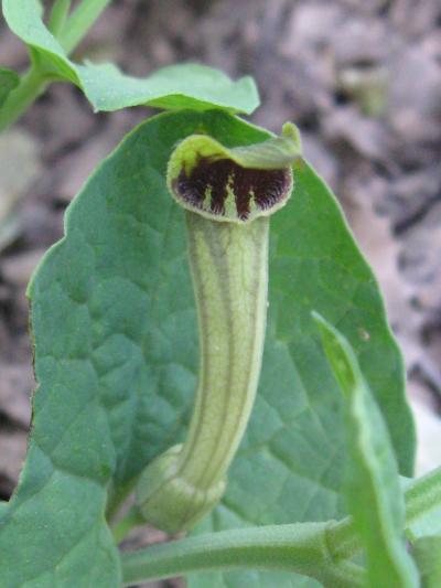
[[[248,223],[289,200],[292,163],[301,157],[297,127],[280,137],[228,148],[207,135],[191,135],[172,152],[166,181],[175,201],[212,221]]]

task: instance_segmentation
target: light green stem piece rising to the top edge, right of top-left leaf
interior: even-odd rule
[[[58,38],[60,44],[72,53],[111,0],[83,0],[67,19]]]

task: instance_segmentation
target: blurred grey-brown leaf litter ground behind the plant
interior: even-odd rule
[[[115,0],[74,55],[85,57],[137,76],[185,61],[251,74],[262,100],[251,120],[299,125],[385,295],[409,374],[418,471],[438,466],[440,0]],[[0,62],[26,66],[2,20]],[[54,84],[0,136],[1,499],[17,483],[31,416],[25,286],[97,162],[151,114],[94,115],[77,89]]]

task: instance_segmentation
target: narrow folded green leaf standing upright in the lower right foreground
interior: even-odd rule
[[[367,554],[369,586],[416,587],[404,542],[405,499],[386,425],[346,339],[314,313],[346,402],[347,501]]]

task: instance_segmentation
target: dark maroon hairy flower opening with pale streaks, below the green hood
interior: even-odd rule
[[[255,169],[232,159],[198,156],[192,169],[183,167],[172,182],[185,207],[219,221],[250,221],[283,205],[292,190],[290,168]]]

